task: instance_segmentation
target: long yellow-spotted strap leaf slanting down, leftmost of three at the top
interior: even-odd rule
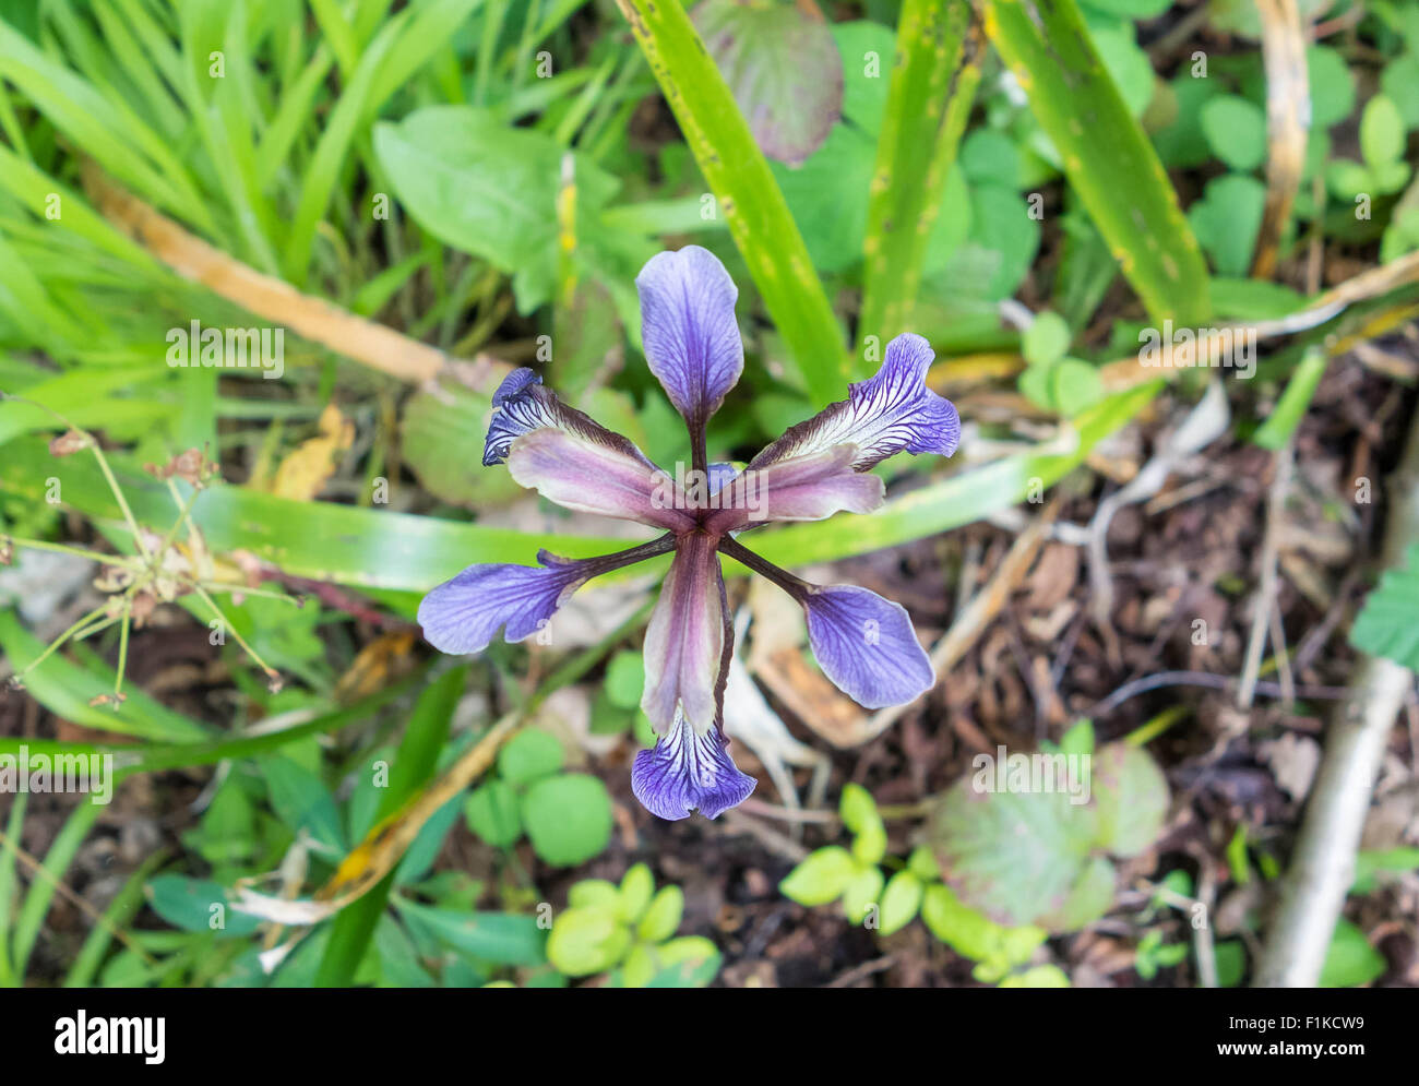
[[[817,406],[841,399],[847,379],[841,328],[714,60],[678,3],[620,0],[620,6],[809,393]]]

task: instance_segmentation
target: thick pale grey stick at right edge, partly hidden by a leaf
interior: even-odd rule
[[[1389,480],[1389,524],[1381,554],[1385,568],[1403,564],[1419,538],[1419,415]],[[1321,975],[1335,920],[1355,872],[1375,775],[1395,717],[1413,687],[1408,667],[1361,654],[1351,698],[1331,720],[1325,754],[1305,806],[1291,866],[1281,880],[1281,904],[1257,967],[1259,988],[1311,988]]]

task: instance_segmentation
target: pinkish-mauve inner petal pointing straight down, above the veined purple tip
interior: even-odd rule
[[[715,727],[724,652],[719,559],[704,532],[681,537],[646,627],[646,690],[640,707],[664,735],[683,711],[697,735]]]

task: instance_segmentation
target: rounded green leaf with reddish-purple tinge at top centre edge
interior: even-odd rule
[[[827,23],[738,0],[704,0],[691,18],[763,153],[802,165],[843,108],[843,61]]]

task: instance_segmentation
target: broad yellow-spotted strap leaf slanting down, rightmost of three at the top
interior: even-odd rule
[[[1198,241],[1073,0],[1029,9],[989,0],[983,10],[990,40],[1148,314],[1155,322],[1205,321],[1208,271]]]

